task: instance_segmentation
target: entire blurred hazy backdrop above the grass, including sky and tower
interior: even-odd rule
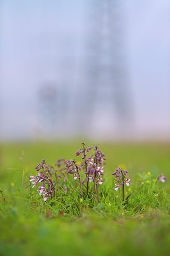
[[[170,139],[168,0],[1,0],[0,140]]]

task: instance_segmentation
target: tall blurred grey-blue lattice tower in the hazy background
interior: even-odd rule
[[[105,115],[110,128],[113,130],[112,126],[115,126],[120,131],[131,122],[123,3],[120,0],[93,0],[90,3],[85,45],[84,107],[81,109],[87,116],[83,115],[83,125],[87,129],[85,123],[89,115],[96,124]]]

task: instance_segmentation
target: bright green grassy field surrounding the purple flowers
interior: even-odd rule
[[[80,147],[73,141],[1,144],[0,255],[170,255],[170,144],[102,142],[106,164],[99,203],[81,201],[76,189],[44,202],[37,188],[22,184],[23,168],[27,181],[43,158],[48,164],[73,159]],[[125,205],[111,176],[119,164],[132,182]],[[160,174],[165,183],[157,181]]]

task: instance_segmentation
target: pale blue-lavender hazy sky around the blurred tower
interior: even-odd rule
[[[99,1],[0,3],[0,138],[32,138],[41,126],[39,85],[57,81],[70,97],[81,87],[88,15]],[[122,1],[135,138],[170,138],[169,14],[168,0]],[[110,123],[99,124],[104,136]]]

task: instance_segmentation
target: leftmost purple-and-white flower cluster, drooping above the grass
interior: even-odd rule
[[[55,186],[52,180],[53,167],[48,166],[48,164],[45,163],[45,159],[43,159],[35,169],[38,172],[41,170],[41,172],[39,172],[36,176],[29,176],[29,181],[33,184],[32,188],[38,186],[38,184],[41,184],[41,186],[38,188],[38,193],[39,195],[42,195],[44,201],[46,201],[48,198],[52,198],[55,193]]]

